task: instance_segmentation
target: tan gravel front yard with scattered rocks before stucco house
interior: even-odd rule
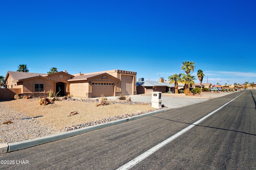
[[[140,102],[109,101],[109,103],[96,107],[95,100],[55,101],[54,104],[46,106],[40,105],[34,99],[0,102],[0,143],[14,143],[52,135],[72,130],[70,127],[74,129],[82,123],[97,124],[116,115],[121,115],[118,116],[118,119],[121,119],[130,114],[155,110],[151,104]],[[77,114],[69,116],[73,111],[77,111]],[[7,121],[12,123],[3,124]]]

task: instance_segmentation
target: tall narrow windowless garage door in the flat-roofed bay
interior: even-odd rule
[[[133,76],[121,76],[121,91],[122,95],[132,95],[132,78]]]

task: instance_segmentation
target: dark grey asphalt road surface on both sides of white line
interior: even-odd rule
[[[117,169],[234,98],[131,169],[256,169],[255,90],[0,154],[0,169]]]

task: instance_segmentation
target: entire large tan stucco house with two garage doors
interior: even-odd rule
[[[136,72],[125,70],[74,75],[66,71],[51,74],[8,71],[4,82],[6,88],[20,88],[22,94],[31,96],[45,96],[51,90],[59,92],[58,96],[92,98],[137,94],[135,80]]]

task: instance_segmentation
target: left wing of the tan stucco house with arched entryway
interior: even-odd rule
[[[20,88],[24,95],[38,97],[45,96],[52,91],[59,92],[58,95],[64,96],[70,91],[67,81],[70,78],[74,78],[74,76],[66,71],[51,74],[8,71],[4,83],[6,88]]]

